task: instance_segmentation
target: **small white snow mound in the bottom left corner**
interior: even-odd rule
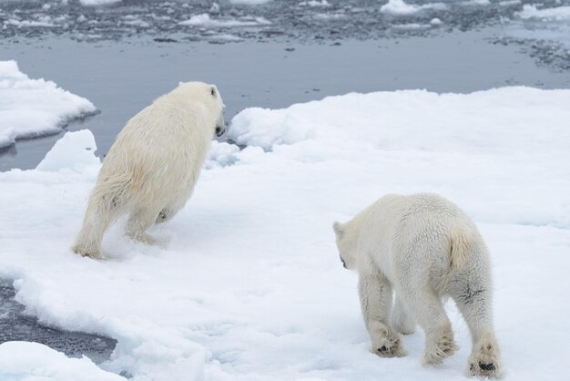
[[[106,372],[87,357],[68,358],[46,345],[26,342],[0,344],[3,381],[125,381]]]

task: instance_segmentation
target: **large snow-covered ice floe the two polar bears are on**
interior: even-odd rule
[[[0,277],[44,324],[117,339],[100,367],[134,381],[462,380],[471,342],[451,303],[461,349],[443,366],[421,366],[420,329],[402,338],[406,357],[368,352],[331,230],[385,193],[434,191],[490,247],[504,380],[565,380],[569,102],[570,90],[497,88],[245,109],[228,131],[245,148],[212,143],[187,207],[151,230],[161,243],[128,241],[118,221],[107,261],[69,250],[99,164],[87,131],[67,133],[50,171],[0,173]],[[25,355],[73,371],[44,347]]]

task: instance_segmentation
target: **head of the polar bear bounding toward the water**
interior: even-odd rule
[[[209,85],[204,82],[180,82],[172,94],[176,94],[177,97],[183,98],[189,103],[196,104],[198,102],[206,109],[208,122],[211,122],[212,136],[216,134],[220,137],[226,132],[224,121],[226,105],[224,105],[216,85]]]

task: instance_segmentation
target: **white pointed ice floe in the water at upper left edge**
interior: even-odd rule
[[[96,110],[54,82],[30,79],[15,61],[0,61],[0,149],[15,139],[57,133],[68,121]]]

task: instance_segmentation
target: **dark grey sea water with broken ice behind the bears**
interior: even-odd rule
[[[100,114],[66,129],[91,129],[100,156],[128,118],[185,80],[217,84],[227,120],[351,91],[570,88],[567,23],[522,19],[525,0],[410,15],[382,12],[385,3],[0,0],[0,59],[91,100]],[[0,152],[0,170],[36,167],[59,138],[19,140]]]

